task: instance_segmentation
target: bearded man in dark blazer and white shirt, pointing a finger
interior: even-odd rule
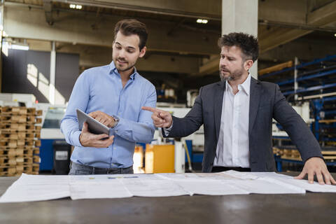
[[[185,118],[167,111],[152,111],[153,123],[164,137],[186,137],[204,125],[202,172],[228,169],[274,172],[272,118],[279,122],[300,151],[304,168],[297,179],[308,174],[318,182],[336,184],[328,172],[321,148],[304,120],[286,102],[274,83],[261,82],[248,73],[258,59],[258,41],[243,33],[223,35],[219,64],[221,81],[200,88],[195,104]]]

